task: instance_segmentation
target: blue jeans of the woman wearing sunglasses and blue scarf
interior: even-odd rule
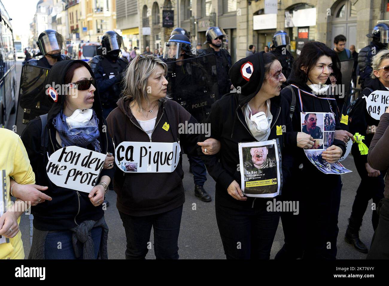
[[[91,237],[95,246],[95,258],[100,249],[100,241],[102,237],[103,228],[101,226],[92,228]],[[76,258],[73,248],[71,230],[57,230],[47,233],[45,242],[45,259],[82,259]],[[60,247],[60,249],[58,249]]]

